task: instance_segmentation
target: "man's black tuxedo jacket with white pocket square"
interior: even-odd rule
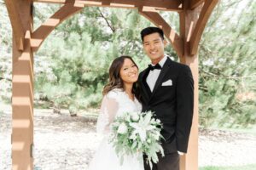
[[[143,111],[154,111],[163,124],[162,146],[166,154],[177,150],[186,153],[194,105],[194,81],[189,66],[167,57],[153,92],[146,82],[149,71],[142,71],[138,78]],[[169,85],[163,86],[166,81]]]

